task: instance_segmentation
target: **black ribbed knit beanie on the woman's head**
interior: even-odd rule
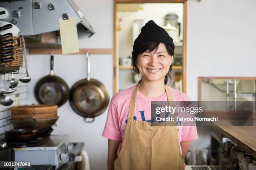
[[[175,46],[172,37],[164,30],[154,23],[153,20],[148,21],[142,28],[141,33],[138,35],[133,44],[133,50],[136,50],[141,44],[148,41],[164,42],[170,45],[174,50]]]

